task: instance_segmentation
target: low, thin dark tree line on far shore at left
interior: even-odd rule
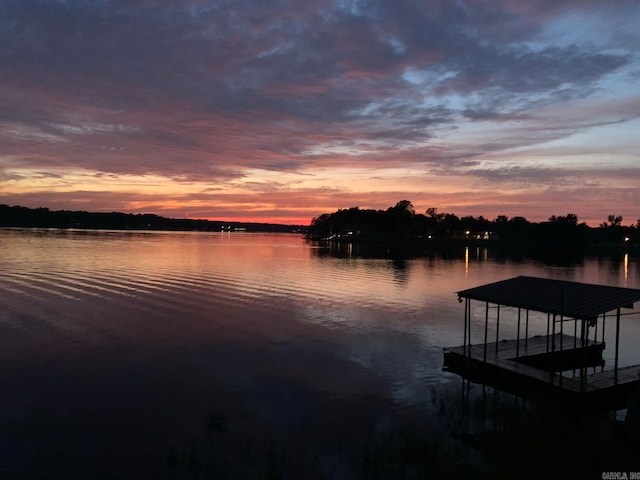
[[[105,230],[183,230],[291,232],[305,227],[273,223],[166,218],[151,213],[102,213],[0,205],[0,227],[89,228]],[[306,230],[306,229],[305,229]]]

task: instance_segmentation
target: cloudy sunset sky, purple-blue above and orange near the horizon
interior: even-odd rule
[[[0,203],[640,218],[637,0],[0,0]]]

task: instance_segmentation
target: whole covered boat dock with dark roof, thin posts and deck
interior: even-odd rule
[[[520,276],[460,291],[458,299],[465,302],[464,340],[444,349],[447,370],[523,396],[607,408],[624,408],[640,385],[640,365],[619,365],[622,310],[633,308],[640,290]],[[471,330],[472,301],[484,303],[482,331]],[[515,339],[500,339],[501,309],[503,316],[515,313]],[[546,334],[529,334],[530,312],[546,314]],[[605,369],[605,329],[612,322],[613,368]]]

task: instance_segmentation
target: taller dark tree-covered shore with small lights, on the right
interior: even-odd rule
[[[401,200],[386,210],[352,207],[325,213],[311,221],[308,237],[326,240],[442,242],[463,240],[526,245],[538,251],[575,253],[588,245],[638,245],[640,220],[623,226],[622,217],[609,215],[596,228],[579,222],[574,213],[552,215],[545,222],[534,223],[524,217],[499,215],[493,220],[483,216],[458,217],[428,208],[415,211],[409,200]]]

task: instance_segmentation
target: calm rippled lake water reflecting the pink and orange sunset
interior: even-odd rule
[[[640,288],[629,256],[337,258],[283,234],[0,230],[0,265],[0,473],[24,478],[357,478],[380,432],[446,436],[454,292],[516,275]],[[637,319],[623,364],[640,362]]]

